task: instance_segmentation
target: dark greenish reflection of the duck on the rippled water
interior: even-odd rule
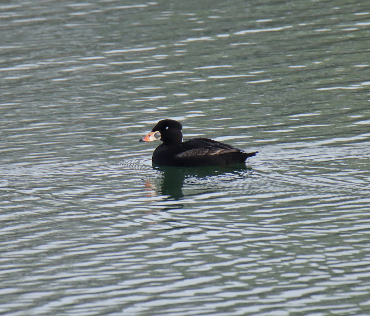
[[[252,173],[252,169],[245,164],[203,168],[153,166],[153,169],[158,171],[161,176],[161,184],[157,188],[158,194],[172,200],[184,198],[184,182],[203,183],[203,189],[212,190],[215,179],[227,181],[233,178],[248,177]]]

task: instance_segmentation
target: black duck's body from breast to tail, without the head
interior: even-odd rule
[[[208,138],[193,138],[175,146],[159,145],[153,153],[152,162],[177,167],[222,166],[243,163],[256,153],[246,153]]]

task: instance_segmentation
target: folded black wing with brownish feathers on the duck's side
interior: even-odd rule
[[[192,156],[213,156],[229,154],[231,152],[243,152],[228,144],[223,144],[208,138],[193,138],[182,143],[178,158]]]

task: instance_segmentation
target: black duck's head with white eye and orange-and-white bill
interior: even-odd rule
[[[152,131],[141,138],[141,142],[161,140],[165,145],[177,145],[182,143],[182,125],[175,120],[162,120],[155,125]]]

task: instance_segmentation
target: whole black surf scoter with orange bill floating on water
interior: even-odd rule
[[[152,157],[159,166],[206,167],[240,164],[258,151],[244,152],[241,149],[208,138],[193,138],[182,141],[182,125],[175,120],[162,120],[139,141],[161,140]]]

